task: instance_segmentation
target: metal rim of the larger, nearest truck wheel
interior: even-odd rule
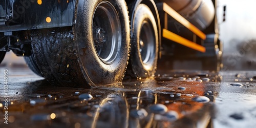
[[[109,2],[101,2],[93,16],[94,47],[100,60],[111,64],[121,46],[121,25],[117,11]]]

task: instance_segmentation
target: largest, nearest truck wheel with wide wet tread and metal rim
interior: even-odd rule
[[[121,82],[130,49],[125,2],[79,1],[76,13],[73,28],[48,29],[41,34],[43,41],[32,45],[42,52],[35,54],[36,62],[45,60],[39,69],[60,86]]]

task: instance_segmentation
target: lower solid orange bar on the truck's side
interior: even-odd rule
[[[173,32],[170,32],[167,29],[163,29],[163,37],[178,42],[179,44],[188,48],[195,49],[199,52],[205,52],[205,47],[198,45],[193,41],[187,40]]]

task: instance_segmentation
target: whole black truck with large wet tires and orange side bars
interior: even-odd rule
[[[12,50],[25,56],[34,73],[59,86],[118,83],[126,70],[125,78],[152,77],[166,56],[209,59],[216,62],[210,70],[219,70],[216,3],[4,0],[0,60]]]

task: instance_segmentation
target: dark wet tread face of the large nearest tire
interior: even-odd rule
[[[51,83],[58,86],[84,84],[72,30],[58,28],[32,35],[32,49],[39,69]]]

